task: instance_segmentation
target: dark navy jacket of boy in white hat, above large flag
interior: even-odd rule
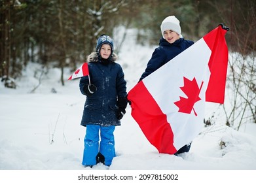
[[[141,78],[139,78],[139,80],[142,80],[146,76],[156,71],[162,65],[166,64],[175,56],[189,48],[189,46],[191,46],[192,44],[194,44],[194,42],[185,40],[183,38],[176,40],[172,44],[161,38],[159,46],[153,52],[151,59],[147,63],[147,68],[145,69],[145,72],[141,75]]]

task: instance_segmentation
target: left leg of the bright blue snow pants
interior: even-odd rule
[[[96,165],[96,156],[99,152],[99,130],[100,125],[86,125],[82,165]]]

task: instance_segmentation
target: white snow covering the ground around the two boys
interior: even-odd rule
[[[117,37],[118,34],[114,40]],[[131,29],[119,53],[118,62],[124,69],[128,91],[137,83],[157,46],[141,46],[135,40],[135,31]],[[29,63],[22,78],[16,81],[16,90],[5,88],[0,82],[0,177],[5,177],[5,170],[149,173],[152,170],[256,169],[256,124],[247,123],[235,131],[225,126],[219,116],[216,124],[205,127],[194,139],[190,152],[173,156],[159,154],[147,141],[131,116],[130,106],[122,125],[115,130],[117,157],[112,165],[83,167],[85,127],[80,122],[85,96],[79,91],[79,79],[65,80],[62,86],[60,70],[50,69],[43,75],[39,88],[31,93],[39,82],[39,76],[34,77],[35,71],[40,75],[40,66]],[[65,69],[65,78],[70,75],[72,71]],[[217,107],[211,104],[206,116]]]

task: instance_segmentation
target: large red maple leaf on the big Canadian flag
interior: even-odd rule
[[[191,114],[191,111],[194,110],[194,103],[201,100],[199,93],[204,82],[202,82],[200,88],[198,88],[196,78],[193,78],[192,81],[185,77],[183,77],[183,79],[184,86],[180,88],[187,95],[187,98],[179,97],[179,101],[175,102],[174,104],[179,107],[179,112]],[[195,111],[194,115],[197,116]]]

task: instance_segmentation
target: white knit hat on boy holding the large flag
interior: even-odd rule
[[[175,16],[168,16],[164,18],[160,28],[162,37],[164,37],[164,31],[166,30],[173,30],[179,35],[179,37],[182,37],[181,26],[179,25],[179,20],[177,20]]]

